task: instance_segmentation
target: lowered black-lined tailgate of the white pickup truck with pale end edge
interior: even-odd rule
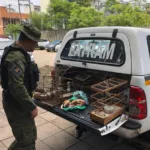
[[[51,107],[47,104],[41,103],[38,100],[35,100],[35,103],[49,111],[52,112],[60,117],[63,117],[66,120],[69,120],[75,124],[78,124],[80,126],[83,126],[84,128],[87,128],[89,130],[93,130],[94,132],[100,134],[101,136],[107,135],[116,129],[118,129],[120,126],[122,126],[125,122],[128,121],[128,116],[125,114],[122,114],[118,118],[114,119],[112,122],[104,126],[103,124],[93,122],[90,119],[90,112],[93,110],[92,106],[88,106],[85,111],[75,111],[75,112],[68,112],[62,110],[60,107]]]

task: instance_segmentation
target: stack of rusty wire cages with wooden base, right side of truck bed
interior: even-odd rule
[[[90,117],[93,121],[104,125],[121,115],[128,103],[128,81],[119,78],[110,78],[92,86],[92,90],[98,91],[91,95],[91,105],[95,110]]]

